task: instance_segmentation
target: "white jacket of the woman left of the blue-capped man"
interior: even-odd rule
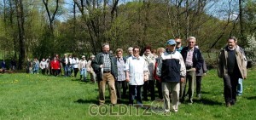
[[[144,71],[148,71],[148,67],[143,57],[131,56],[126,60],[125,71],[129,71],[130,85],[143,85]]]

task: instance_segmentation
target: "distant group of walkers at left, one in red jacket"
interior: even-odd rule
[[[49,56],[46,60],[43,58],[40,62],[37,58],[34,60],[27,59],[26,72],[38,74],[39,69],[43,75],[64,75],[64,77],[77,77],[80,71],[80,80],[87,82],[87,72],[90,73],[90,80],[96,82],[96,74],[91,67],[91,61],[94,60],[95,55],[90,55],[90,60],[86,60],[83,55],[81,60],[76,55],[64,54],[61,58],[59,54],[55,54],[53,59]]]

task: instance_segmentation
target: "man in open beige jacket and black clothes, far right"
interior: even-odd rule
[[[218,77],[224,80],[224,100],[227,107],[236,104],[238,79],[247,78],[247,67],[236,37],[229,37],[218,55]]]

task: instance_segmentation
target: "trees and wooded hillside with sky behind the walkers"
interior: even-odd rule
[[[39,60],[53,54],[90,54],[102,43],[165,47],[170,38],[194,36],[208,65],[238,38],[255,62],[256,0],[0,0],[0,60]]]

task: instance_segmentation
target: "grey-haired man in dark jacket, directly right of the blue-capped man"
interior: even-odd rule
[[[201,51],[195,48],[196,39],[195,37],[188,37],[188,46],[183,48],[181,54],[183,55],[183,60],[187,70],[186,82],[182,85],[182,102],[185,96],[189,94],[189,105],[193,104],[193,94],[194,94],[194,83],[195,83],[195,72],[199,72],[203,64],[203,59],[201,57]],[[189,83],[188,93],[186,94],[186,85]]]

